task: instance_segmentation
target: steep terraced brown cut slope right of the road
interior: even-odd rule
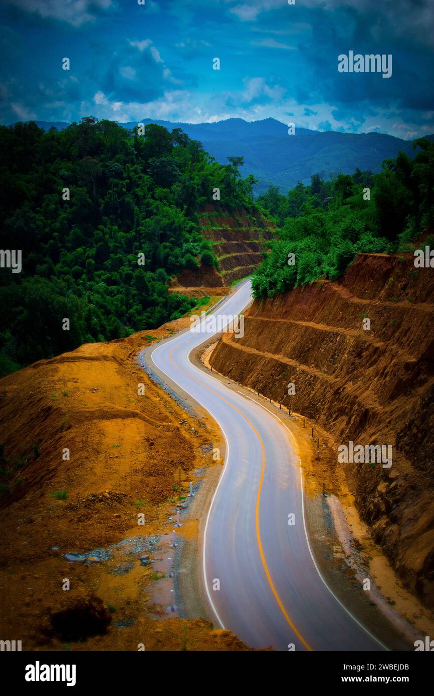
[[[412,256],[362,254],[341,283],[255,301],[243,338],[223,335],[210,356],[218,372],[317,422],[336,448],[392,445],[390,468],[338,464],[337,449],[335,466],[375,541],[431,608],[433,290],[433,269],[415,269]]]

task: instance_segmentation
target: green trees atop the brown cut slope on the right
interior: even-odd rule
[[[265,244],[254,296],[336,280],[359,252],[413,251],[412,242],[434,228],[434,143],[419,139],[413,146],[414,159],[399,152],[378,174],[357,169],[327,181],[313,175],[310,186],[299,182],[286,196],[277,187],[260,196],[256,203],[277,223],[278,238]]]

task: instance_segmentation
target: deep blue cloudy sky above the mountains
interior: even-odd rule
[[[434,132],[432,0],[3,0],[0,19],[1,123],[271,116]],[[350,50],[392,54],[392,77],[338,72]]]

